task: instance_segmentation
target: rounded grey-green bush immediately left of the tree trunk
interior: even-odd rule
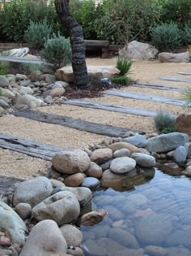
[[[41,59],[53,64],[53,69],[66,66],[71,61],[70,40],[65,37],[56,37],[45,42],[45,48],[40,52]]]

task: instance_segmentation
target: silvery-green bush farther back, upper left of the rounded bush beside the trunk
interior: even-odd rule
[[[45,41],[53,36],[53,28],[47,24],[47,20],[34,22],[30,21],[28,29],[24,33],[24,40],[29,46],[35,49],[41,49]]]

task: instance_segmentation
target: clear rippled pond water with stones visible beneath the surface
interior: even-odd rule
[[[94,192],[92,209],[108,215],[81,227],[85,256],[191,255],[191,179],[155,169],[144,182]]]

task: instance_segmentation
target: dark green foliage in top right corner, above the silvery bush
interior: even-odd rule
[[[163,23],[176,22],[180,28],[191,21],[191,4],[189,0],[158,0]]]

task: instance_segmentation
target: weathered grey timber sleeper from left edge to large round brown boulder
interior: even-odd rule
[[[56,145],[39,143],[38,141],[20,138],[2,132],[0,132],[0,148],[17,151],[48,161],[51,161],[53,155],[57,152],[66,150]]]

